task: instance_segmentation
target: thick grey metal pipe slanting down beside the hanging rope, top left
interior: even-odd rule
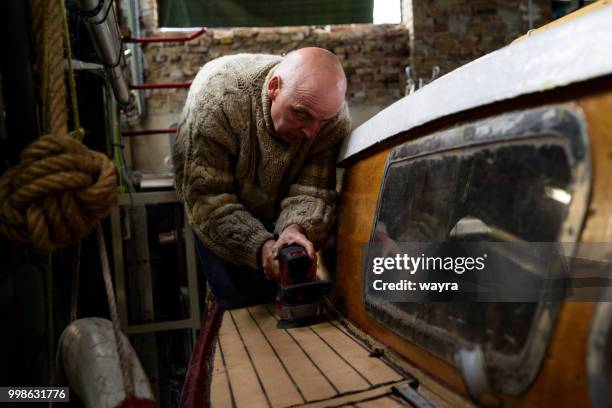
[[[133,103],[130,74],[123,52],[121,33],[112,0],[75,0],[98,57],[110,78],[115,98],[121,105]]]

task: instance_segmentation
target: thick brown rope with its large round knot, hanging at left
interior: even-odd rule
[[[51,252],[79,242],[116,204],[113,162],[81,143],[68,23],[63,0],[32,0],[41,71],[43,131],[20,163],[0,177],[0,234]],[[75,131],[67,132],[64,47]]]

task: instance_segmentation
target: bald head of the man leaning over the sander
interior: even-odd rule
[[[342,108],[346,76],[333,53],[316,47],[289,53],[268,83],[270,114],[289,143],[313,139]]]

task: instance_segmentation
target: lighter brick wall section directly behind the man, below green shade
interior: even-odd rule
[[[403,25],[211,29],[187,44],[147,45],[145,75],[147,82],[190,81],[203,64],[222,55],[282,55],[306,46],[327,48],[340,58],[349,102],[388,103],[402,96],[404,67],[410,63],[409,35]],[[149,109],[180,109],[185,94],[150,91]]]

